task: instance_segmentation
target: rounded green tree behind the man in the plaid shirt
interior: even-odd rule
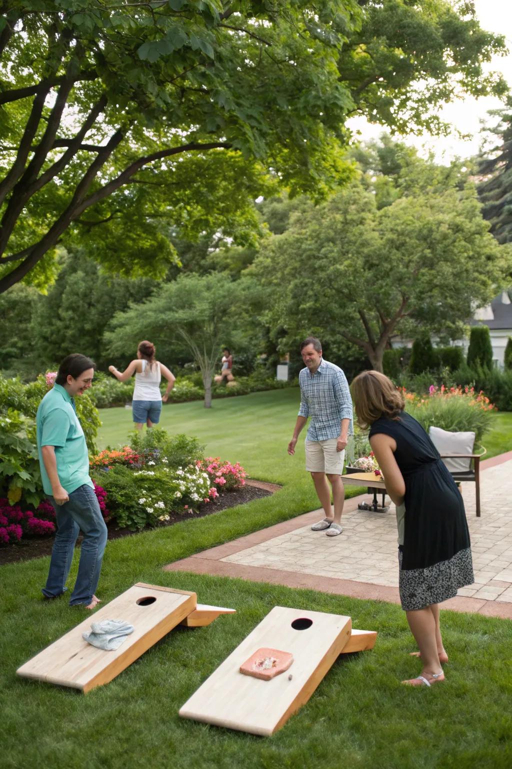
[[[393,337],[421,328],[461,338],[474,307],[507,280],[510,248],[488,233],[473,186],[435,167],[428,186],[428,165],[418,162],[416,191],[390,205],[378,209],[362,178],[263,245],[249,273],[270,284],[266,322],[282,328],[283,350],[309,335],[344,338],[382,371]]]

